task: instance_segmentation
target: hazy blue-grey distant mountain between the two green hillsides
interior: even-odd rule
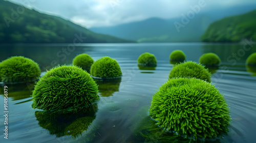
[[[182,24],[182,16],[172,19],[150,18],[118,26],[91,28],[90,30],[138,42],[199,42],[210,23],[254,9],[256,9],[256,5],[199,12],[178,30],[177,23]],[[184,14],[186,15],[186,13]]]

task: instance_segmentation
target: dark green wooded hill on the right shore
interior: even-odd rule
[[[239,42],[245,38],[255,41],[255,26],[256,10],[212,23],[201,39],[204,42]]]

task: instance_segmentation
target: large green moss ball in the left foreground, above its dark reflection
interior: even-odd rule
[[[32,94],[35,109],[61,112],[86,111],[99,99],[98,86],[77,66],[56,66],[42,76]]]

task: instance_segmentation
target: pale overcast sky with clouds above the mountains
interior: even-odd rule
[[[190,10],[191,0],[9,0],[39,12],[60,16],[83,27],[114,26],[150,17],[172,18]],[[255,4],[255,0],[201,0],[201,11]]]

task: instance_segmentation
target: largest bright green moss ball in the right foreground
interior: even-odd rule
[[[230,124],[224,96],[196,78],[173,78],[163,84],[153,96],[150,115],[162,128],[187,137],[226,134]]]

